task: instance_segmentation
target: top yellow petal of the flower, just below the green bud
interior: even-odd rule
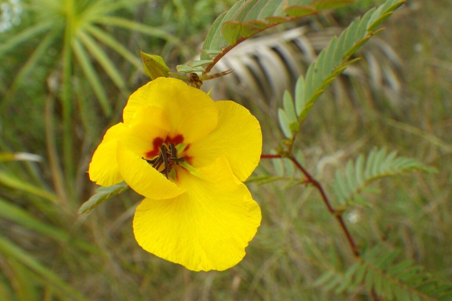
[[[138,88],[124,108],[124,124],[131,124],[142,106],[162,108],[168,117],[170,137],[183,135],[184,143],[204,137],[217,125],[217,108],[212,98],[180,79],[159,77]]]

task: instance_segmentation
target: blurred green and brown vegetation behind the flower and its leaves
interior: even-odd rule
[[[1,301],[370,300],[364,290],[336,296],[314,286],[323,271],[341,271],[353,257],[310,187],[250,183],[262,226],[245,259],[225,272],[190,272],[142,250],[132,233],[141,200],[133,191],[77,214],[96,189],[86,173],[95,147],[121,119],[128,95],[148,80],[139,50],[165,57],[174,70],[197,55],[209,25],[234,2],[0,1]],[[357,1],[269,33],[307,26],[304,41],[318,53],[328,29],[347,26],[381,2]],[[335,168],[373,146],[438,167],[435,175],[381,181],[381,193],[367,195],[373,207],[350,208],[345,219],[359,245],[386,241],[446,281],[452,278],[451,13],[450,1],[409,0],[379,36],[386,51],[379,56],[372,53],[379,42],[369,45],[357,73],[322,96],[296,140],[307,169],[325,187]],[[303,51],[298,60],[309,62]],[[292,75],[283,88],[292,89]],[[254,99],[237,92],[246,79],[216,80],[214,98],[245,104],[261,122],[264,152],[277,148],[282,94],[270,97],[261,84],[267,97]],[[228,80],[234,84],[225,88]],[[275,172],[272,162],[262,162],[255,175]]]

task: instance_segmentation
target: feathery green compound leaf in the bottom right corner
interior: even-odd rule
[[[399,250],[377,245],[363,252],[344,274],[330,269],[321,275],[315,285],[336,294],[353,292],[362,284],[367,291],[375,290],[384,300],[449,301],[452,284],[432,278],[411,260],[400,260]]]

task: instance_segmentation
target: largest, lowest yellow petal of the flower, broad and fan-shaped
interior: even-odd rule
[[[143,249],[163,259],[193,271],[221,271],[245,256],[260,208],[224,157],[199,171],[207,180],[178,167],[178,185],[187,191],[173,199],[144,199],[133,232]]]

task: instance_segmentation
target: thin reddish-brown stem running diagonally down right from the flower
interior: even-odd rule
[[[261,158],[282,158],[281,155],[266,155],[266,154],[262,154],[260,157]],[[345,236],[347,237],[348,245],[350,245],[353,255],[358,257],[359,256],[358,248],[355,244],[355,241],[353,240],[353,237],[350,235],[350,232],[348,231],[347,226],[345,225],[344,219],[342,218],[341,211],[336,210],[333,208],[333,206],[331,206],[330,200],[326,196],[325,190],[323,190],[322,185],[320,185],[320,183],[317,180],[315,180],[304,167],[301,166],[300,162],[298,162],[295,157],[293,157],[292,155],[289,155],[287,158],[290,159],[293,162],[293,164],[295,164],[295,166],[306,176],[306,183],[311,183],[319,191],[319,193],[322,197],[322,200],[326,205],[326,208],[328,208],[328,211],[330,211],[330,213],[334,216],[334,218],[337,219],[337,221],[339,222],[339,225],[342,229],[342,232],[344,232]]]

